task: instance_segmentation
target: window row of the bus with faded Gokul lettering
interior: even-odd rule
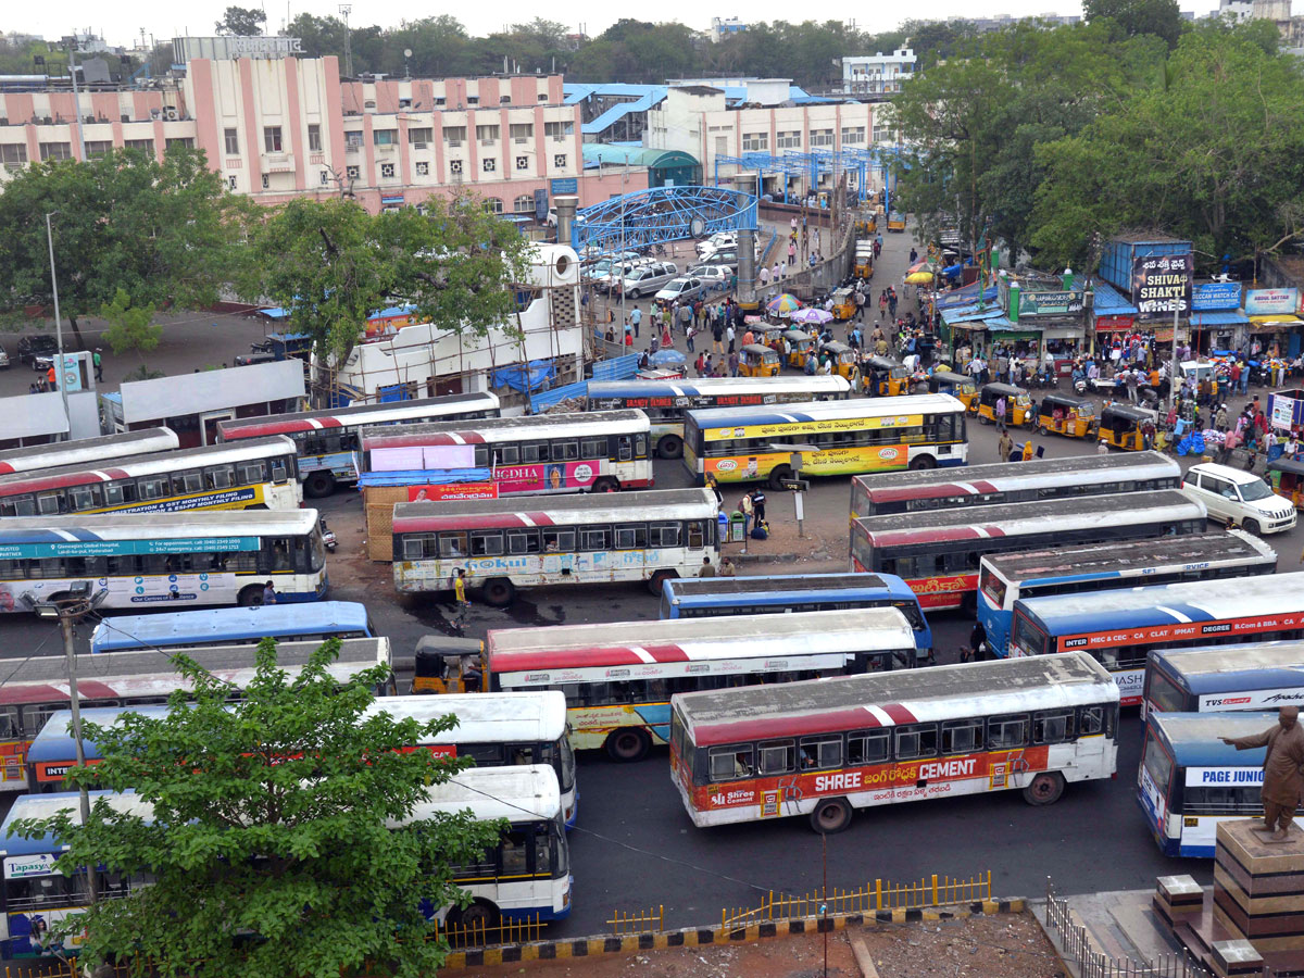
[[[404,533],[403,559],[458,559],[503,554],[647,550],[685,546],[702,549],[715,542],[713,520],[665,520],[614,526],[458,529],[441,533]],[[687,542],[685,542],[687,541]]]

